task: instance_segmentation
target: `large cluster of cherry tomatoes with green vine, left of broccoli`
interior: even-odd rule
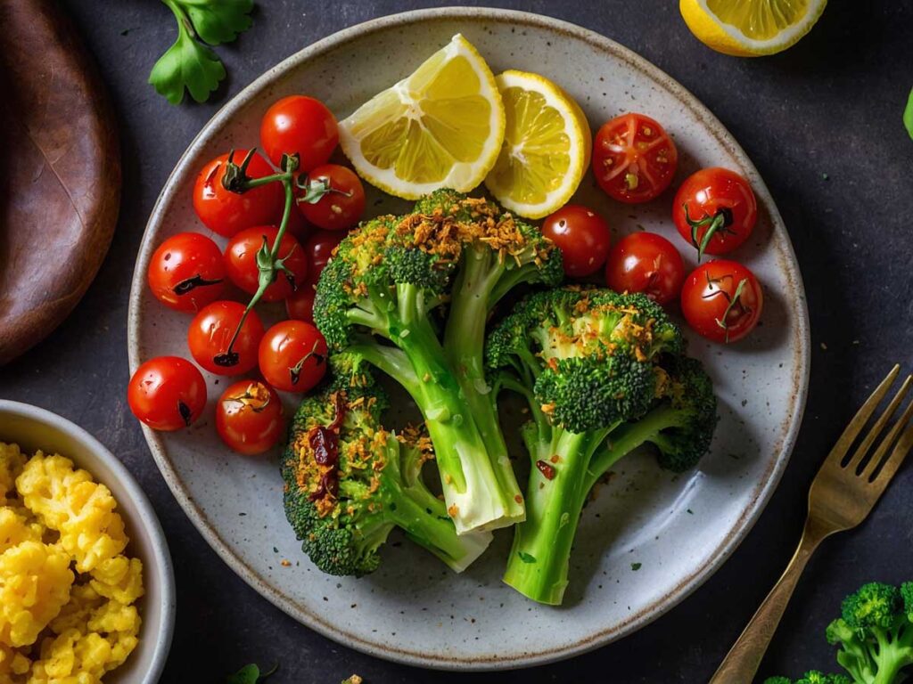
[[[227,239],[224,248],[203,233],[178,233],[152,254],[147,274],[156,299],[194,315],[187,347],[200,368],[225,377],[257,372],[231,384],[215,407],[218,434],[244,454],[279,440],[277,390],[306,392],[326,371],[326,341],[313,326],[314,289],[365,204],[358,176],[329,163],[339,133],[319,100],[278,100],[261,122],[260,141],[266,157],[227,152],[194,184],[194,211]],[[287,197],[294,206],[287,208]],[[236,291],[239,301],[229,298]],[[289,320],[265,329],[258,302],[284,302]],[[152,358],[133,374],[128,400],[153,430],[181,430],[205,409],[205,379],[184,358]]]

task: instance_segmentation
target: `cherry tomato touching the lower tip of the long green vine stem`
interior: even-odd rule
[[[187,345],[196,362],[210,373],[240,375],[257,366],[257,347],[263,337],[263,324],[256,311],[247,314],[234,344],[230,350],[228,348],[244,310],[243,304],[222,300],[206,306],[191,321]]]

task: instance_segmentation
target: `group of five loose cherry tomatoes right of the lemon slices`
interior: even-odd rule
[[[655,200],[677,171],[678,153],[666,130],[644,114],[629,113],[603,124],[593,140],[593,175],[619,202]],[[679,187],[672,220],[682,238],[704,254],[729,254],[754,230],[758,204],[749,181],[735,171],[701,169]],[[542,233],[561,247],[565,272],[590,275],[605,262],[606,285],[643,292],[659,304],[679,300],[688,325],[716,342],[736,342],[758,324],[763,295],[744,265],[716,260],[686,276],[675,245],[656,233],[633,233],[609,248],[605,222],[568,205],[552,214]]]

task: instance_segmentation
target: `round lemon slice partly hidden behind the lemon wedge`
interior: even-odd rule
[[[577,190],[590,165],[590,125],[577,103],[548,78],[505,71],[495,81],[507,122],[485,184],[505,209],[539,219]]]

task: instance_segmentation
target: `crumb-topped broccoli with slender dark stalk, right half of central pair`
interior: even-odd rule
[[[469,413],[488,446],[501,491],[509,498],[510,517],[524,516],[522,496],[498,422],[498,407],[486,378],[484,362],[488,317],[498,301],[523,283],[557,285],[563,277],[561,251],[532,226],[500,214],[484,200],[452,190],[431,193],[415,204],[430,222],[457,224],[459,259],[450,290],[444,351]]]

